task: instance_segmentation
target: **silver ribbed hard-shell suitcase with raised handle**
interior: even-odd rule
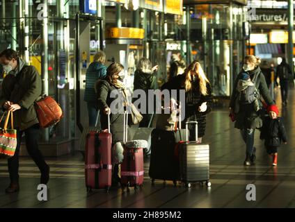
[[[196,142],[189,142],[189,124],[196,124]],[[186,142],[179,144],[180,155],[180,180],[186,187],[191,187],[191,182],[209,182],[209,144],[198,143],[198,122],[186,122]]]

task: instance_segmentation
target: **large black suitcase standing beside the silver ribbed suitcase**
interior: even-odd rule
[[[181,118],[180,118],[181,119]],[[184,141],[186,130],[180,128],[175,131],[162,129],[152,130],[152,146],[150,155],[149,176],[154,180],[173,180],[176,185],[180,180],[179,162],[175,155],[175,146]]]

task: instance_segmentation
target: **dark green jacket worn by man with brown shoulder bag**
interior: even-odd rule
[[[24,66],[16,76],[8,74],[3,79],[0,107],[3,108],[6,101],[17,103],[22,107],[13,112],[15,128],[25,130],[39,123],[34,101],[41,95],[41,91],[40,75],[37,69],[31,65]]]

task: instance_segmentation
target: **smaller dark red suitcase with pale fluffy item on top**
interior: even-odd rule
[[[124,159],[121,164],[121,187],[124,191],[125,187],[143,186],[143,148],[148,146],[148,142],[142,139],[131,140],[127,142],[127,128],[128,128],[128,115],[124,115]]]

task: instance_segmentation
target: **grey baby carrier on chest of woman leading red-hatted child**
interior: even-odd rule
[[[246,89],[239,92],[239,103],[251,104],[259,98],[260,94],[255,86],[257,78],[258,74],[255,74],[252,80],[252,83],[254,83],[254,85],[249,85],[248,87],[246,87]]]

